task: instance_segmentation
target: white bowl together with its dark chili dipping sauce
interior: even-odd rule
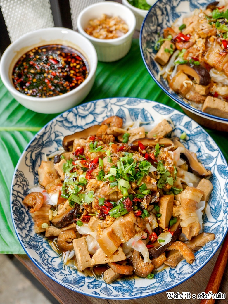
[[[58,113],[88,95],[96,67],[96,50],[88,39],[55,27],[27,33],[11,43],[0,61],[0,77],[26,108]]]

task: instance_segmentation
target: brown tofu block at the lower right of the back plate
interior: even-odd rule
[[[228,102],[222,101],[219,98],[207,96],[202,111],[211,115],[228,118]]]

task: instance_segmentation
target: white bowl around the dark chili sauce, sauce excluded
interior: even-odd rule
[[[12,82],[12,71],[17,60],[34,47],[48,44],[66,45],[78,50],[88,61],[88,77],[77,88],[53,97],[34,97],[17,91]],[[88,39],[71,29],[53,27],[27,33],[11,43],[0,60],[0,77],[6,88],[20,104],[35,112],[49,114],[66,111],[81,102],[92,88],[96,68],[96,50]]]

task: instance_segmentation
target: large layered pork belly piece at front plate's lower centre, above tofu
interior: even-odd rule
[[[118,217],[111,226],[98,235],[98,244],[108,257],[117,250],[120,244],[127,242],[135,235],[135,224],[136,218],[134,212],[131,211]]]

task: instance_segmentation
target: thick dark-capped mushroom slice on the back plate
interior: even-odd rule
[[[179,64],[177,71],[182,71],[183,73],[192,76],[195,78],[195,81],[198,85],[209,85],[211,82],[211,76],[208,70],[202,65],[194,64]]]

